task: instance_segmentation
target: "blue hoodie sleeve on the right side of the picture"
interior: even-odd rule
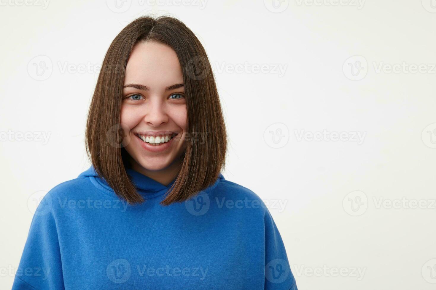
[[[268,208],[265,210],[265,290],[298,290],[285,246]]]

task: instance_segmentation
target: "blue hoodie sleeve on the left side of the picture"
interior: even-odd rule
[[[12,290],[63,290],[61,253],[50,193],[34,213]]]

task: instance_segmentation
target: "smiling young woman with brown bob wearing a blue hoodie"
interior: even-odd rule
[[[134,20],[92,97],[92,166],[39,204],[13,289],[296,290],[265,204],[220,173],[226,143],[197,37],[172,17]]]

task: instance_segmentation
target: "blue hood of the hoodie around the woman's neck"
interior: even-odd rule
[[[130,177],[130,180],[132,181],[133,185],[136,187],[136,190],[138,190],[138,193],[140,193],[145,198],[157,197],[166,193],[173,185],[173,183],[176,181],[177,178],[177,177],[174,178],[174,180],[171,181],[168,185],[164,185],[131,168],[127,168],[126,173]],[[94,184],[99,183],[101,187],[104,187],[106,190],[109,190],[111,193],[115,193],[114,190],[106,182],[106,180],[99,177],[99,175],[97,174],[97,172],[95,171],[92,165],[87,170],[80,173],[78,177],[89,177]],[[224,179],[225,179],[224,176],[220,173],[215,183],[211,184],[209,187],[207,187],[202,191],[204,192],[211,191],[218,185],[218,182],[220,180],[224,180]]]

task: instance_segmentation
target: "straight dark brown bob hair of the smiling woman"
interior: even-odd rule
[[[194,33],[174,17],[139,17],[109,46],[95,86],[86,124],[86,153],[99,177],[129,204],[142,203],[126,168],[128,153],[120,144],[120,111],[127,60],[134,45],[155,41],[171,47],[179,59],[187,109],[187,138],[181,171],[161,204],[183,202],[214,183],[225,165],[227,133],[221,103],[206,51]],[[114,130],[114,128],[116,128]],[[111,132],[116,132],[111,134]],[[194,135],[195,134],[195,135]],[[122,142],[121,142],[122,143]]]

